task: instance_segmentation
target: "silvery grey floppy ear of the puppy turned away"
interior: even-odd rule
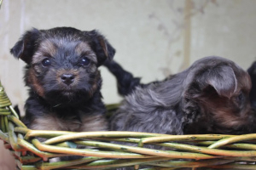
[[[207,84],[211,85],[216,90],[218,95],[230,97],[235,93],[237,88],[236,75],[233,69],[228,65],[218,66],[213,68],[208,74]]]

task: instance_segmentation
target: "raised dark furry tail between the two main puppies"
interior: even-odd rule
[[[121,65],[114,60],[106,60],[104,65],[117,79],[118,92],[120,95],[125,96],[131,94],[137,86],[143,86],[140,82],[141,78],[133,77],[131,72],[125,71]]]

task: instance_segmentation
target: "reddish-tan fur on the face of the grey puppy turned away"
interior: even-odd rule
[[[201,100],[202,103],[204,103],[207,107],[208,111],[211,111],[212,114],[208,119],[214,120],[218,125],[221,127],[242,127],[247,126],[248,122],[250,122],[250,119],[252,119],[252,112],[251,106],[249,104],[249,92],[252,87],[252,83],[250,81],[250,77],[246,72],[243,74],[236,75],[237,78],[237,88],[236,91],[232,94],[230,99],[226,98],[219,98],[218,96],[211,96],[211,99],[203,98]],[[243,108],[241,108],[240,111],[236,111],[236,97],[241,94],[245,94],[245,105],[243,105]]]

